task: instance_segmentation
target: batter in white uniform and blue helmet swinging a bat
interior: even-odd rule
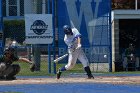
[[[70,28],[68,25],[63,26],[65,33],[64,42],[68,46],[68,64],[62,68],[59,68],[57,71],[57,79],[60,78],[61,73],[66,70],[70,70],[74,67],[77,59],[82,63],[85,72],[88,75],[88,79],[94,78],[91,74],[89,68],[89,62],[81,48],[81,34],[76,28]]]

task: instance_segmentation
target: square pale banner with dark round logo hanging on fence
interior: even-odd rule
[[[51,14],[26,14],[25,29],[27,44],[51,44],[53,42]]]

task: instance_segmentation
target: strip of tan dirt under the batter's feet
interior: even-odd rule
[[[62,77],[59,80],[57,80],[55,77],[17,78],[17,80],[12,81],[0,81],[0,85],[51,83],[140,84],[140,76],[96,76],[95,79],[86,79],[85,77]]]

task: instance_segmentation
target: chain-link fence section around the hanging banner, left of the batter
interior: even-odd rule
[[[52,0],[3,0],[4,19],[4,45],[8,47],[16,41],[17,54],[19,57],[28,58],[36,64],[36,73],[42,75],[53,73],[53,44],[27,44],[26,43],[26,14],[51,14]],[[48,61],[50,61],[48,63]],[[19,75],[31,75],[29,64],[18,62],[21,65]],[[54,71],[55,72],[55,71]],[[40,75],[39,74],[39,75]],[[37,74],[36,74],[37,75]]]

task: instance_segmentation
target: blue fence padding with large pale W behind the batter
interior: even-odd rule
[[[82,34],[83,49],[88,48],[89,50],[86,53],[89,60],[94,55],[93,60],[90,60],[91,62],[110,62],[110,13],[111,0],[58,0],[59,56],[67,51],[66,44],[63,41],[63,25],[71,25],[70,21],[73,21],[74,26]],[[104,52],[103,49],[107,49],[107,51]],[[100,53],[96,52],[98,50]],[[91,52],[93,52],[93,55],[91,55]],[[108,55],[107,59],[103,58],[104,54]],[[63,62],[67,62],[65,60]]]

